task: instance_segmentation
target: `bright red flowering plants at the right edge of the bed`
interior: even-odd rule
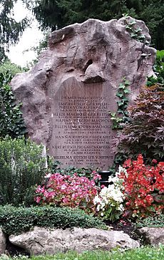
[[[152,162],[156,164],[156,160]],[[118,175],[123,180],[125,216],[147,217],[163,212],[164,165],[153,165],[145,166],[142,155],[136,161],[125,161]]]

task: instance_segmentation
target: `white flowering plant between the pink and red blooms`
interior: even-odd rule
[[[96,205],[98,216],[113,222],[123,214],[124,196],[121,191],[122,181],[118,178],[117,173],[116,177],[110,176],[108,182],[113,182],[113,184],[103,187],[93,202]]]

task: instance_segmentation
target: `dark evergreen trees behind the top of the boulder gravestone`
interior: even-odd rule
[[[164,48],[163,0],[23,0],[33,9],[42,29],[62,28],[86,19],[108,21],[128,14],[145,21],[153,46]]]

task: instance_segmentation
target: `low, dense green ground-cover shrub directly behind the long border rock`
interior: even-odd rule
[[[0,206],[0,227],[6,234],[20,234],[31,227],[68,228],[97,227],[106,229],[101,220],[81,209],[68,207],[13,207]]]

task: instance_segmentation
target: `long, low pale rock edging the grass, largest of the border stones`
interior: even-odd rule
[[[65,230],[34,227],[33,231],[9,236],[9,241],[34,255],[56,254],[68,250],[78,252],[94,249],[110,250],[116,246],[132,249],[139,246],[138,241],[123,232],[76,227]]]

